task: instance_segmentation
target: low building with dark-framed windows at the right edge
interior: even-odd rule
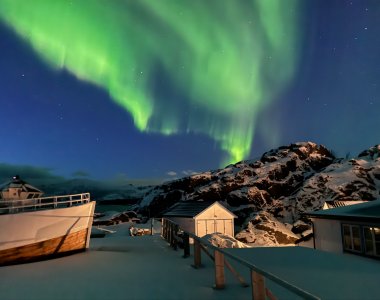
[[[314,248],[380,258],[380,200],[307,213]]]

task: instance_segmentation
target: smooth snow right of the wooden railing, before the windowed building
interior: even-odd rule
[[[225,251],[324,300],[379,298],[378,260],[304,247]]]

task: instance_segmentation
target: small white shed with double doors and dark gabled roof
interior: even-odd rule
[[[163,218],[199,237],[215,232],[234,236],[236,216],[219,202],[181,201],[169,208]]]

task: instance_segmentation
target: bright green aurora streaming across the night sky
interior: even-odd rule
[[[50,67],[109,92],[135,126],[206,134],[249,155],[257,118],[291,82],[299,0],[0,0]],[[177,97],[157,92],[161,75]]]

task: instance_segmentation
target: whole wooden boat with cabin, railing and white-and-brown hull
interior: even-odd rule
[[[0,265],[51,258],[89,247],[95,210],[89,193],[40,197],[40,190],[18,176],[0,190]]]

